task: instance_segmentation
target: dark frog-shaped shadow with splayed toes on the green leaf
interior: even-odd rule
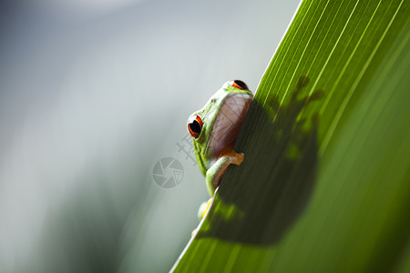
[[[285,105],[276,96],[269,106],[252,101],[242,126],[248,134],[240,134],[234,148],[245,160],[228,168],[197,238],[272,245],[302,214],[316,178],[319,116],[298,118],[323,96],[315,91],[298,98],[308,82],[301,76]],[[270,168],[260,172],[266,162]]]

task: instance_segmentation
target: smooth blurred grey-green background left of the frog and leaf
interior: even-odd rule
[[[2,1],[0,272],[168,271],[208,199],[187,119],[256,89],[298,5]]]

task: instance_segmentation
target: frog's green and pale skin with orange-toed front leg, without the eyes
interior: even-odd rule
[[[232,83],[225,83],[202,109],[191,115],[200,116],[203,123],[200,136],[193,138],[193,146],[210,196],[227,167],[240,165],[244,156],[233,151],[233,145],[253,96],[250,90],[234,87]]]

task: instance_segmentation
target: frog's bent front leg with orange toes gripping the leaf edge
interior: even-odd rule
[[[207,187],[210,196],[213,196],[215,189],[220,185],[220,179],[230,164],[240,165],[243,161],[243,153],[234,151],[228,152],[218,158],[218,160],[208,169],[206,175]]]

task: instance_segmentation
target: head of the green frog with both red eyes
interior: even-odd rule
[[[202,109],[190,116],[188,130],[204,175],[221,155],[231,151],[252,97],[244,82],[226,82]]]

